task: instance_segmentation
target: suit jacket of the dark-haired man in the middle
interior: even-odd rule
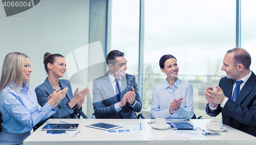
[[[116,112],[114,105],[118,101],[108,74],[109,73],[106,73],[104,76],[93,81],[93,107],[95,117],[97,119],[137,119],[135,112],[140,112],[142,105],[140,96],[137,93],[138,88],[135,76],[130,74],[122,76],[120,100],[122,100],[126,92],[132,91],[131,86],[133,86],[137,103],[134,108],[132,108],[130,104],[126,102],[121,111]]]

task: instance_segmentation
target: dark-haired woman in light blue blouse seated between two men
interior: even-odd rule
[[[152,119],[189,120],[194,115],[193,87],[177,77],[179,67],[176,61],[170,54],[163,55],[159,61],[160,69],[167,77],[154,87],[150,111]]]

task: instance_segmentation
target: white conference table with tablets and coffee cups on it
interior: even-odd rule
[[[60,121],[68,123],[78,123],[79,127],[76,132],[80,131],[75,137],[73,136],[43,136],[44,131],[41,130],[47,123],[60,123]],[[94,123],[109,123],[119,125],[119,122],[135,122],[144,123],[145,131],[134,130],[136,134],[113,134],[106,135],[104,130],[86,127]],[[219,132],[221,136],[202,136],[190,137],[172,134],[170,128],[158,130],[147,124],[150,119],[49,119],[44,125],[33,132],[24,140],[24,145],[40,145],[40,144],[152,144],[152,143],[172,143],[172,144],[255,144],[256,137],[223,125],[227,129]],[[188,122],[196,127],[206,129],[207,119],[198,120],[167,120],[166,122]],[[211,132],[211,131],[208,131]]]

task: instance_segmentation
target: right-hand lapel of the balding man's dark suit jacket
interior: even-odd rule
[[[244,84],[242,90],[240,91],[240,93],[238,94],[238,98],[236,100],[237,104],[240,104],[247,96],[248,94],[252,91],[252,86],[255,85],[255,80],[256,80],[256,76],[255,74],[252,72],[251,76],[249,77],[249,79],[246,81],[246,83]]]

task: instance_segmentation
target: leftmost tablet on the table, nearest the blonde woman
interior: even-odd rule
[[[47,124],[42,130],[76,130],[79,124]]]

